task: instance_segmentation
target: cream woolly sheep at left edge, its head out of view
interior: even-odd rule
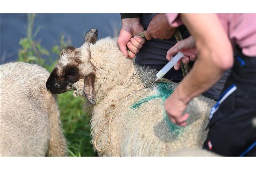
[[[0,66],[0,155],[66,156],[56,95],[45,87],[49,72],[36,64]]]

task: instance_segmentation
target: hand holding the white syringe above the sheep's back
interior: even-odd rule
[[[189,63],[189,61],[195,61],[197,55],[197,49],[192,36],[189,38],[177,42],[173,47],[167,51],[166,59],[171,60],[173,54],[176,54],[178,51],[181,51],[184,54],[184,57],[181,58],[175,65],[174,69],[178,70],[180,68],[180,62],[184,64]]]

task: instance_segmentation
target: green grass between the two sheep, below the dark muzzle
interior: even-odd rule
[[[73,92],[58,95],[61,122],[68,144],[69,156],[96,156],[90,135],[90,117],[83,109],[84,101],[73,97]]]

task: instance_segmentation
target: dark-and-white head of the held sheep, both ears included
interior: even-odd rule
[[[97,37],[98,30],[91,29],[86,33],[81,47],[68,46],[62,50],[59,60],[46,82],[48,90],[54,94],[74,90],[73,84],[84,78],[83,92],[89,102],[96,103],[94,89],[96,70],[90,62],[90,44],[94,44]]]

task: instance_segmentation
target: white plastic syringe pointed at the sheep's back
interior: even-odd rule
[[[182,52],[178,52],[157,74],[156,80],[162,78],[182,57],[184,54]]]

